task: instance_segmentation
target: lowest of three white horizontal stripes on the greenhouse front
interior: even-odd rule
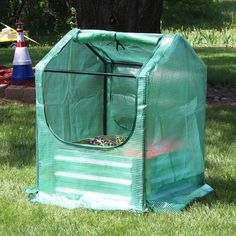
[[[70,194],[76,194],[76,195],[92,195],[95,198],[109,198],[114,200],[120,200],[120,201],[130,201],[131,197],[126,197],[122,195],[116,195],[116,194],[107,194],[107,193],[97,193],[97,192],[91,192],[91,191],[83,191],[79,189],[72,189],[72,188],[63,188],[63,187],[57,187],[56,192],[61,193],[70,193]]]

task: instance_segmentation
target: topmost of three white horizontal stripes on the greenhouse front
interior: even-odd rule
[[[101,166],[112,166],[112,167],[117,167],[117,168],[120,167],[120,168],[126,168],[126,169],[130,169],[132,167],[130,163],[94,160],[94,159],[87,159],[83,157],[74,158],[74,157],[67,157],[67,156],[56,156],[55,160],[75,162],[75,163],[86,163],[86,164],[101,165]]]

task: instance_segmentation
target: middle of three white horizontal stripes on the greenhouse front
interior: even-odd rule
[[[57,171],[55,175],[67,178],[94,180],[94,181],[109,182],[122,185],[131,185],[132,183],[132,181],[128,179],[109,178],[97,175],[84,175],[84,174],[68,173],[64,171]]]

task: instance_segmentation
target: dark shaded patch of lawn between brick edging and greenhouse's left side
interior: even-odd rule
[[[11,103],[0,106],[0,165],[35,163],[35,109]]]

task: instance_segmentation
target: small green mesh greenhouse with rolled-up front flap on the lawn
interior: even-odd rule
[[[161,212],[212,191],[206,67],[181,36],[73,29],[36,66],[36,89],[32,201]]]

